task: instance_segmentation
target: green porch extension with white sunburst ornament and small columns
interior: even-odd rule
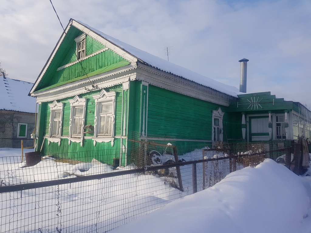
[[[229,112],[239,115],[244,141],[311,138],[311,112],[301,103],[276,98],[270,92],[239,94],[238,97]]]

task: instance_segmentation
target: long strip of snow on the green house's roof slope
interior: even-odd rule
[[[150,53],[147,53],[145,51],[142,51],[138,48],[133,47],[132,45],[129,45],[127,43],[124,43],[118,39],[115,39],[109,35],[104,34],[103,32],[96,30],[95,28],[92,28],[91,26],[84,24],[80,21],[77,21],[81,25],[87,27],[88,29],[94,31],[96,34],[99,34],[104,39],[107,39],[109,42],[115,44],[119,48],[122,48],[123,50],[127,51],[128,53],[132,54],[134,57],[137,57],[138,59],[142,60],[143,62],[146,62],[147,64],[155,67],[156,69],[183,77],[185,79],[194,81],[198,84],[210,87],[212,89],[216,89],[220,92],[223,92],[225,94],[237,97],[238,94],[245,94],[239,92],[239,89],[237,89],[234,86],[229,86],[223,83],[220,83],[216,80],[213,80],[211,78],[207,78],[203,75],[197,74],[196,72],[190,71],[182,66],[178,66],[174,63],[168,62],[160,57],[156,57]]]

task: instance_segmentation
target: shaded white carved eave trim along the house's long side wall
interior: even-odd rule
[[[230,100],[236,99],[215,89],[140,63],[137,66],[136,79],[150,85],[223,106],[229,106]]]

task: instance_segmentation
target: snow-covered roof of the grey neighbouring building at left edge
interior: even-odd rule
[[[0,109],[35,113],[36,99],[28,96],[33,85],[0,76]]]

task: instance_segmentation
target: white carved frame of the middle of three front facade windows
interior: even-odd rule
[[[86,112],[86,98],[79,98],[77,95],[73,99],[68,99],[70,103],[70,119],[69,119],[69,136],[68,136],[68,144],[71,142],[77,142],[83,145],[83,128],[85,123],[85,112]],[[75,107],[83,107],[82,113],[82,124],[81,124],[81,135],[72,136],[73,131],[73,118],[74,118],[74,109]]]

